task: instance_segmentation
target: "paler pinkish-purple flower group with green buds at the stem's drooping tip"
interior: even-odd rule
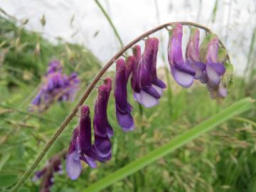
[[[182,87],[190,87],[193,80],[206,83],[210,97],[221,99],[228,95],[227,87],[222,82],[225,74],[225,49],[219,48],[218,36],[208,34],[199,43],[198,28],[191,28],[191,35],[186,46],[186,60],[182,55],[183,26],[176,23],[170,31],[168,58],[171,74]]]

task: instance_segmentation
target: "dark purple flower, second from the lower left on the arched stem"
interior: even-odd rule
[[[107,102],[110,97],[111,89],[112,81],[110,78],[107,78],[105,83],[100,85],[95,102],[95,117],[93,119],[95,144],[93,149],[97,155],[102,158],[102,161],[111,159],[110,136],[112,136],[112,127],[107,119]]]

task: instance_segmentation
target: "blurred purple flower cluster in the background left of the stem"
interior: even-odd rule
[[[78,91],[79,82],[76,73],[72,73],[70,76],[63,74],[60,62],[53,60],[49,63],[38,94],[31,102],[30,110],[43,112],[55,101],[73,101],[75,93]]]

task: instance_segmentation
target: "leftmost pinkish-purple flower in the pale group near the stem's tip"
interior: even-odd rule
[[[171,74],[182,87],[190,87],[193,84],[193,76],[196,71],[185,63],[182,55],[182,25],[176,23],[170,31],[168,60],[171,67]]]

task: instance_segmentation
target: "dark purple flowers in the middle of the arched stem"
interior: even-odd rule
[[[129,56],[126,62],[122,58],[117,60],[114,97],[117,121],[125,132],[134,129],[132,105],[127,102],[129,76],[132,75],[131,86],[134,91],[134,100],[144,107],[158,105],[163,89],[166,88],[165,83],[156,75],[158,46],[157,38],[148,38],[145,42],[144,53],[141,54],[140,46],[134,46],[133,56]]]

